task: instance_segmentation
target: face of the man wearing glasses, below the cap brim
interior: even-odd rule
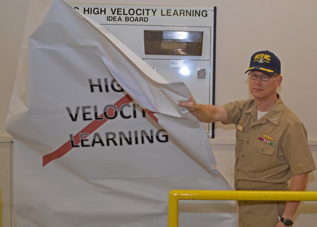
[[[276,96],[276,90],[282,81],[281,76],[270,78],[269,81],[262,81],[260,76],[264,76],[265,74],[261,71],[250,71],[249,73],[258,75],[256,80],[249,79],[249,89],[256,100],[266,100],[272,96]]]

